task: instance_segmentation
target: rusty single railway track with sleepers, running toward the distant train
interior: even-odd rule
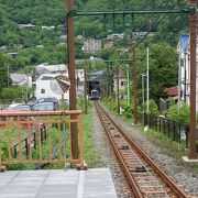
[[[95,102],[99,119],[129,182],[131,194],[138,198],[189,198]]]

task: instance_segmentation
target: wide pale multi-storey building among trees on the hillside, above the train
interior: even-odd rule
[[[85,53],[97,53],[101,50],[101,40],[88,38],[84,42],[82,51]]]

